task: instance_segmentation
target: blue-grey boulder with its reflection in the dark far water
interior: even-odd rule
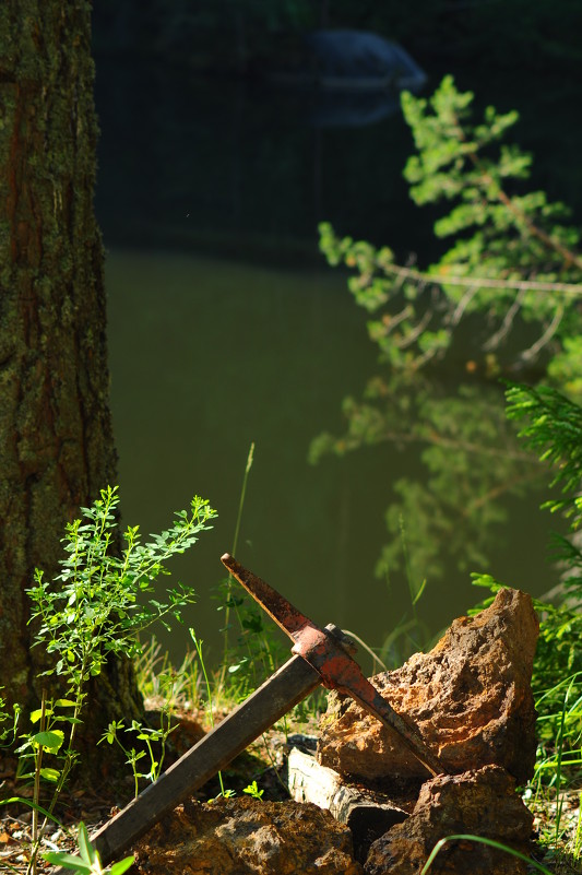
[[[273,79],[309,90],[309,120],[322,127],[370,125],[397,111],[399,92],[419,91],[425,72],[395,43],[364,31],[314,31],[293,69]]]

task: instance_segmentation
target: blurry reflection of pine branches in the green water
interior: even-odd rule
[[[542,473],[516,440],[499,387],[465,382],[450,389],[401,373],[371,379],[364,398],[346,399],[343,411],[346,431],[317,437],[312,462],[380,442],[396,452],[419,449],[421,475],[391,484],[390,541],[377,574],[404,570],[416,590],[425,579],[442,579],[451,560],[460,570],[486,567],[508,520],[508,498],[523,496]]]

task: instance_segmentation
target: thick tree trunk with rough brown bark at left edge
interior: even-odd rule
[[[93,79],[90,3],[2,0],[0,660],[9,701],[38,694],[41,654],[29,651],[24,591],[34,568],[54,575],[66,522],[116,481]],[[117,670],[109,682],[129,707],[130,674]]]

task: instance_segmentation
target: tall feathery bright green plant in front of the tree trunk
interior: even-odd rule
[[[82,508],[83,519],[67,527],[61,572],[49,582],[37,569],[35,586],[28,590],[34,603],[31,619],[40,620],[35,646],[57,659],[44,674],[60,675],[72,702],[72,714],[61,716],[69,735],[55,801],[75,760],[76,726],[90,677],[100,673],[109,655],[139,653],[138,635],[154,622],[167,625],[168,616],[180,619],[180,608],[195,600],[190,588],[168,588],[166,602],[150,596],[143,603],[139,596],[154,591],[156,579],[168,574],[165,563],[190,547],[215,517],[209,502],[195,496],[189,512],[178,512],[174,525],[146,544],[140,542],[139,527],[128,527],[126,545],[116,555],[118,504],[117,489],[107,487],[91,508]],[[52,807],[54,803],[49,811]]]

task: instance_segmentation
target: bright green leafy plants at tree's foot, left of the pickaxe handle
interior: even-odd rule
[[[36,569],[27,590],[34,647],[45,652],[50,667],[37,675],[39,708],[28,714],[17,707],[8,713],[3,701],[0,708],[2,741],[17,757],[16,793],[1,799],[0,806],[32,809],[31,830],[23,836],[25,865],[16,870],[26,875],[37,872],[45,833],[50,825],[60,825],[70,776],[84,765],[79,732],[90,683],[108,661],[139,657],[140,635],[154,624],[169,628],[170,622],[181,620],[182,608],[195,600],[192,588],[167,586],[156,598],[154,584],[169,575],[168,560],[190,548],[216,516],[205,499],[194,496],[167,530],[144,541],[136,525],[120,533],[118,505],[117,488],[108,486],[91,507],[81,508],[79,519],[66,527],[59,572],[49,580]],[[107,728],[102,741],[119,744],[135,791],[141,778],[159,776],[169,731],[167,723],[157,730],[135,720],[127,726],[123,719]]]

